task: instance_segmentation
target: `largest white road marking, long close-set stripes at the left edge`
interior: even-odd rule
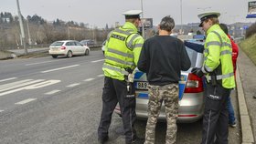
[[[31,80],[31,79],[29,79],[29,80]],[[36,88],[40,88],[40,87],[47,87],[49,85],[57,84],[60,82],[60,80],[47,80],[47,81],[44,81],[44,80],[45,79],[37,79],[37,80],[29,81],[27,83],[20,84],[20,85],[14,86],[14,87],[5,87],[3,89],[0,89],[0,92],[4,91],[4,92],[0,93],[0,96],[4,96],[4,95],[11,94],[11,93],[21,91],[21,90],[29,90],[29,89],[36,89]],[[41,81],[43,81],[43,82],[41,82]],[[33,84],[33,83],[36,83],[36,84]],[[30,85],[30,84],[33,84],[33,85]],[[25,87],[23,87],[23,86],[25,86]],[[16,88],[16,89],[13,89],[13,88]],[[6,91],[6,90],[9,90],[9,91]]]

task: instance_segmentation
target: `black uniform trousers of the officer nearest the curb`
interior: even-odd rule
[[[229,111],[227,98],[229,88],[207,84],[205,92],[205,111],[201,144],[228,144]]]

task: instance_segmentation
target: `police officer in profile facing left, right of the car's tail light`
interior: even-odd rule
[[[227,97],[235,87],[232,48],[229,37],[219,27],[219,13],[198,15],[206,33],[203,67],[192,73],[207,79],[202,144],[228,144],[229,115]]]

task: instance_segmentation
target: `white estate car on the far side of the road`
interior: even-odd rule
[[[49,46],[48,54],[53,58],[57,58],[58,56],[73,57],[89,55],[90,48],[88,46],[82,46],[76,40],[62,40],[52,43]]]

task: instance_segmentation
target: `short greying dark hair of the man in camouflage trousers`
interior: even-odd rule
[[[160,29],[171,32],[175,25],[175,20],[170,15],[167,15],[164,18],[162,18],[159,26]]]

